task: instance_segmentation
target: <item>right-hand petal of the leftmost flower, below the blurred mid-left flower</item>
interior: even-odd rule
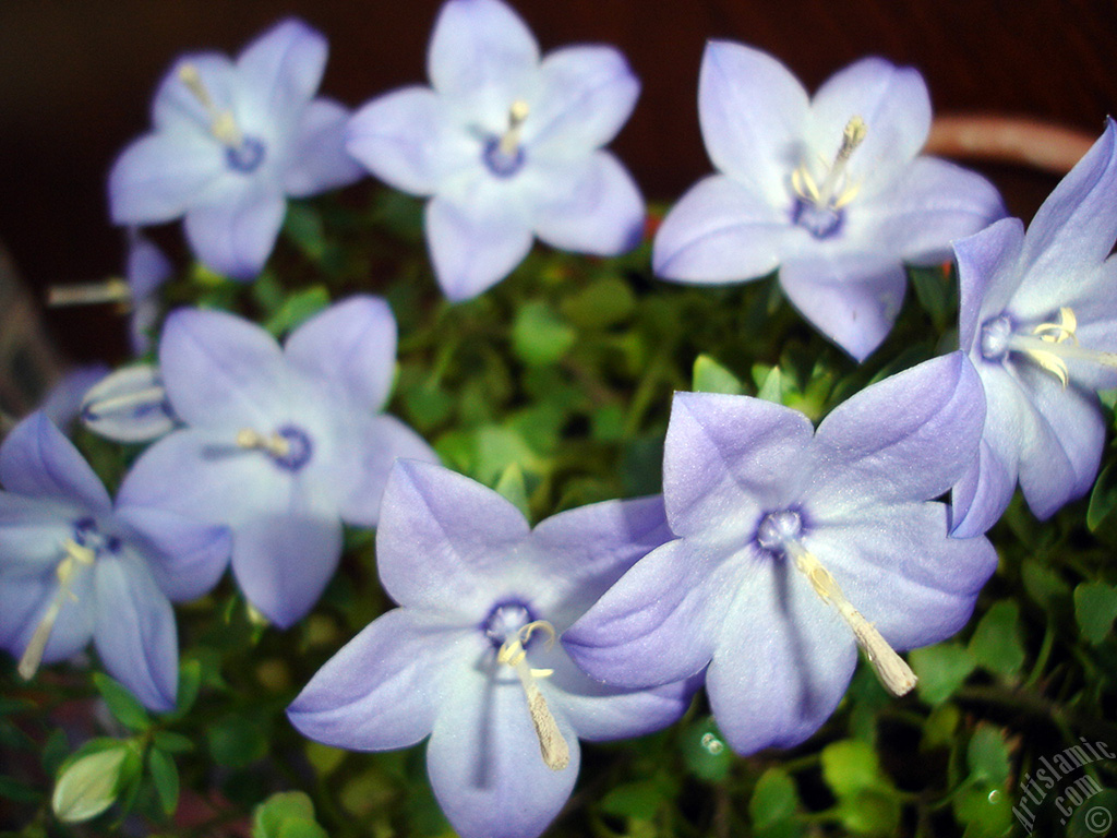
[[[143,506],[118,507],[116,517],[135,531],[152,575],[175,602],[208,593],[229,564],[232,536],[226,526]]]

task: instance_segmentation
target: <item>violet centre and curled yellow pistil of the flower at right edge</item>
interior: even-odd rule
[[[1097,352],[1078,343],[1078,317],[1063,306],[1059,320],[1040,323],[1030,333],[1014,331],[1008,315],[985,321],[981,328],[981,354],[986,361],[1003,361],[1010,352],[1020,352],[1050,372],[1065,388],[1070,381],[1067,361],[1088,361],[1117,368],[1117,353]]]

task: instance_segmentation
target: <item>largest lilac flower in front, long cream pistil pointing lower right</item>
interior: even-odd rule
[[[677,393],[663,499],[679,537],[641,559],[563,637],[619,686],[706,672],[718,726],[739,753],[790,747],[838,706],[860,645],[900,695],[895,649],[968,619],[996,554],[947,537],[942,495],[983,418],[961,352],[881,381],[813,429],[758,399]]]

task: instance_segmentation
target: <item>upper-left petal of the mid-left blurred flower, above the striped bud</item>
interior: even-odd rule
[[[189,425],[270,430],[271,418],[284,407],[283,351],[271,335],[241,317],[172,312],[163,325],[159,359],[174,412]]]

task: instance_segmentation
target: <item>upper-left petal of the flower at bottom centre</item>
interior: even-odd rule
[[[401,606],[475,619],[494,602],[493,579],[538,585],[534,569],[516,555],[528,532],[521,512],[496,492],[441,466],[399,460],[376,530],[380,581]]]

